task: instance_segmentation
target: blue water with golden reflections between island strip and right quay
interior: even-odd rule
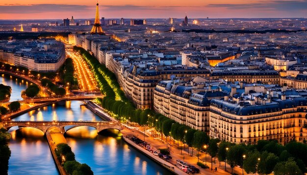
[[[116,130],[97,134],[91,127],[77,127],[66,132],[68,145],[77,161],[88,164],[95,175],[168,175],[151,159],[128,146]],[[82,134],[80,134],[82,133]]]

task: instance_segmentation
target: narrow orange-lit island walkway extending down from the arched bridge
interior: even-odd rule
[[[61,165],[55,154],[56,145],[60,143],[67,144],[65,137],[59,130],[47,131],[46,137],[57,169],[59,170],[61,175],[67,175],[66,171],[64,170],[64,167]]]

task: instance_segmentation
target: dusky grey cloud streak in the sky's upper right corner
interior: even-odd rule
[[[297,11],[307,10],[307,0],[263,0],[258,3],[246,4],[208,4],[206,7],[224,7],[228,9],[260,9],[260,10],[282,10]]]

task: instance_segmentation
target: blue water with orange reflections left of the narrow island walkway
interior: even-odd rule
[[[9,175],[58,175],[44,133],[34,128],[13,127],[8,143],[12,153]]]

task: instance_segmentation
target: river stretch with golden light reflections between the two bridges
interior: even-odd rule
[[[23,115],[16,117],[17,121],[102,121],[95,113],[87,109],[85,106],[80,106],[83,103],[80,101],[58,102],[47,107],[29,111]]]

